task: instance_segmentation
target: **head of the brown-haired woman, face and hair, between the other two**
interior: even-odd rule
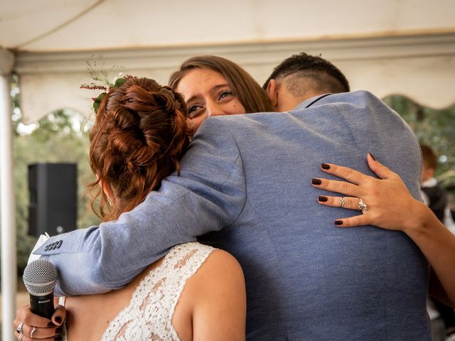
[[[184,61],[168,85],[188,106],[188,129],[194,134],[209,116],[269,112],[267,94],[239,65],[214,55]]]

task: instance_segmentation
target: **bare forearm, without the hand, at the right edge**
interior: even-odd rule
[[[412,226],[405,229],[405,233],[417,244],[427,257],[434,274],[439,279],[444,293],[433,293],[435,296],[444,296],[455,307],[455,236],[451,234],[429,208],[419,202],[414,202],[412,212]],[[433,288],[437,288],[433,286]]]

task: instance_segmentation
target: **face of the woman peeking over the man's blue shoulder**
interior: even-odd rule
[[[176,89],[188,107],[188,128],[194,134],[209,116],[245,114],[225,77],[209,69],[195,68],[182,77]]]

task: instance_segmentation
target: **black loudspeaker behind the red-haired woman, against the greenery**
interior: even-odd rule
[[[76,229],[77,166],[74,163],[28,165],[28,234],[55,236]]]

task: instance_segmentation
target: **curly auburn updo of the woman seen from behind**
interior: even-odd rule
[[[180,171],[189,143],[187,116],[181,94],[149,78],[128,76],[107,92],[90,129],[90,166],[97,181],[88,185],[92,209],[103,221],[132,210],[163,178]]]

